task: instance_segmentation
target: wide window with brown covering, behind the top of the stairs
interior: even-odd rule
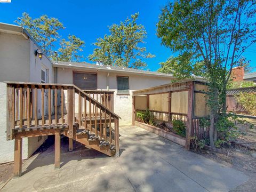
[[[97,74],[95,73],[73,73],[74,85],[82,90],[97,89]]]

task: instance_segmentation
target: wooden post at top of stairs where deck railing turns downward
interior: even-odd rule
[[[73,138],[73,87],[68,88],[68,137]]]

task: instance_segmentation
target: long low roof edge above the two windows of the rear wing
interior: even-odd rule
[[[132,73],[132,74],[141,74],[141,75],[151,75],[158,77],[170,77],[174,78],[171,74],[158,73],[155,71],[141,70],[141,69],[131,69],[124,67],[115,67],[115,66],[100,66],[95,64],[90,64],[87,62],[63,62],[58,61],[58,63],[53,63],[53,67],[61,68],[79,68],[79,69],[95,69],[99,71],[108,71],[108,72],[119,72],[119,73]]]

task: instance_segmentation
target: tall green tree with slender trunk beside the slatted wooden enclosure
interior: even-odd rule
[[[255,4],[252,0],[177,0],[168,3],[159,16],[157,36],[162,44],[178,52],[181,60],[190,60],[180,62],[180,68],[194,74],[196,63],[203,63],[209,82],[211,146],[217,141],[215,124],[220,112],[226,114],[231,70],[255,43]]]

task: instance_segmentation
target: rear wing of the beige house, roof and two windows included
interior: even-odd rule
[[[114,91],[114,112],[119,125],[132,124],[132,91],[170,83],[172,75],[86,62],[53,63],[57,83],[74,84],[82,90]],[[76,109],[77,111],[77,109]]]

